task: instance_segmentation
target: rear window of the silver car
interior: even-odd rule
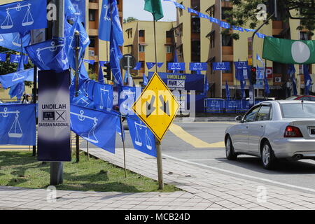
[[[281,104],[283,118],[315,118],[315,104]]]

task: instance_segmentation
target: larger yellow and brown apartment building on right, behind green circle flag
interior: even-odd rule
[[[187,62],[208,62],[207,78],[209,80],[209,97],[225,97],[225,80],[228,81],[231,89],[231,97],[237,96],[240,93],[239,81],[235,78],[235,67],[233,62],[246,61],[248,59],[248,37],[251,37],[251,31],[231,31],[239,33],[239,40],[235,41],[230,34],[223,35],[221,28],[216,23],[211,23],[209,20],[199,18],[194,13],[188,13],[187,8],[192,8],[198,12],[207,14],[218,20],[225,21],[225,10],[232,8],[232,2],[223,0],[178,0],[186,7],[186,10],[177,8],[177,26],[176,34],[176,50],[179,55],[179,62],[186,62],[186,73],[189,71],[189,63]],[[278,7],[279,8],[279,7]],[[260,33],[267,36],[277,38],[290,39],[311,39],[311,36],[306,35],[307,30],[297,31],[299,20],[289,20],[283,22],[281,12],[278,12],[278,18],[269,22],[260,29]],[[249,28],[249,25],[244,25],[244,28]],[[315,39],[315,36],[312,37]],[[263,38],[255,36],[254,40],[254,65],[256,53],[262,57]],[[214,71],[211,67],[211,62],[230,62],[230,70]],[[265,60],[264,60],[265,62]],[[288,84],[290,84],[287,75],[287,65],[276,62],[267,61],[267,67],[272,69],[272,76],[268,79],[270,95],[285,98],[288,94]],[[261,66],[260,62],[258,65]],[[302,66],[295,65],[295,70],[302,74]],[[315,65],[310,69],[310,73],[315,73]],[[312,75],[314,80],[314,75]],[[248,83],[248,82],[247,82]],[[297,76],[297,86],[304,88],[303,75]],[[298,92],[301,93],[299,89]],[[262,96],[263,87],[256,90],[256,96]]]

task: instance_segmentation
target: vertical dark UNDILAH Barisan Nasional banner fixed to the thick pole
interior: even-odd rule
[[[38,160],[71,161],[70,72],[38,71]]]

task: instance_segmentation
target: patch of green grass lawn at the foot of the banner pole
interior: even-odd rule
[[[64,183],[58,190],[93,190],[140,193],[158,190],[158,181],[146,178],[103,160],[80,153],[80,162],[64,162]],[[50,185],[50,163],[38,162],[29,151],[0,152],[0,186],[21,188],[47,188]],[[163,192],[179,190],[165,185]]]

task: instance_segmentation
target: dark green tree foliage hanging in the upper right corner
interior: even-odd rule
[[[308,29],[308,34],[314,35],[315,30],[315,0],[276,0],[277,1],[277,19],[283,22],[288,22],[289,19],[300,20],[300,25],[291,27],[292,29]],[[225,10],[224,14],[227,22],[231,25],[244,27],[249,25],[249,28],[256,29],[262,20],[259,20],[262,15],[262,8],[258,5],[263,3],[267,6],[267,18],[274,12],[274,0],[232,0],[233,8]],[[228,30],[223,31],[227,34]],[[239,36],[232,36],[238,39]]]

